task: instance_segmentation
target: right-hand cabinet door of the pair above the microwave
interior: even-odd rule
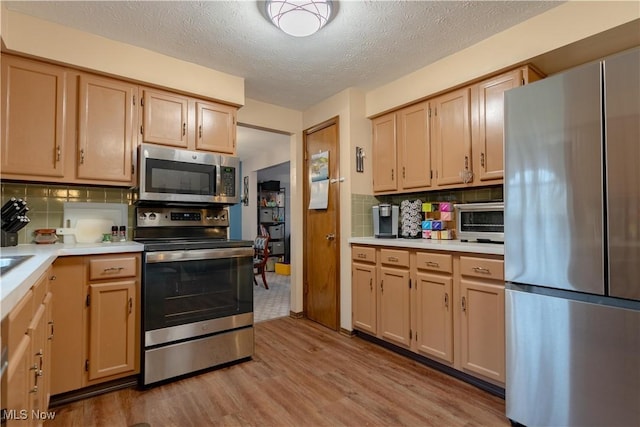
[[[236,152],[236,109],[228,105],[196,102],[196,149]]]

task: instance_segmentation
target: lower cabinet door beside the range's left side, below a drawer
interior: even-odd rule
[[[89,284],[89,381],[135,369],[136,281]]]

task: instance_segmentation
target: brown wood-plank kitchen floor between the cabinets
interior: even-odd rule
[[[255,326],[252,360],[52,408],[46,427],[507,426],[504,401],[306,319]]]

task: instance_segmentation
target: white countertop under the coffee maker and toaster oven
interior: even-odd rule
[[[432,251],[504,255],[504,245],[500,243],[477,243],[461,242],[460,240],[431,239],[378,239],[375,237],[352,237],[349,239],[349,243],[396,248],[427,249]]]

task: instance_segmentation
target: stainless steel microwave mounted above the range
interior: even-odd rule
[[[240,202],[237,157],[141,144],[138,159],[139,200],[224,205]]]

